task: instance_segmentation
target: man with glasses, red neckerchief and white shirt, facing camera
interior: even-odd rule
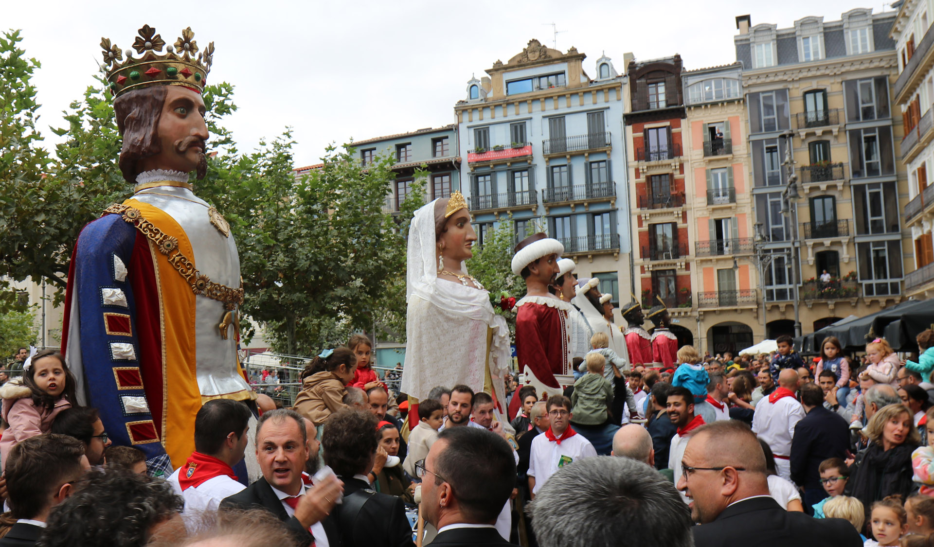
[[[531,442],[529,456],[529,490],[534,499],[548,477],[564,466],[579,459],[597,456],[597,450],[583,435],[571,428],[571,400],[563,395],[552,395],[545,402],[551,426],[544,435]]]

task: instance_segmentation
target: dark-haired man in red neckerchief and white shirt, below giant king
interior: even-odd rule
[[[233,466],[247,449],[250,412],[229,399],[205,402],[194,418],[194,452],[168,481],[185,499],[186,516],[217,511],[220,501],[243,490]]]

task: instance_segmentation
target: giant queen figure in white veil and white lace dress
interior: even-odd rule
[[[416,211],[406,258],[405,366],[401,390],[418,400],[432,387],[470,386],[505,411],[509,328],[489,292],[467,273],[476,233],[459,191]],[[508,420],[506,420],[508,423]]]

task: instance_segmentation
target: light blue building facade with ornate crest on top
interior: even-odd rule
[[[454,106],[461,191],[479,245],[505,220],[517,240],[546,231],[618,306],[631,287],[623,77],[605,55],[590,77],[586,58],[533,39],[467,82]]]

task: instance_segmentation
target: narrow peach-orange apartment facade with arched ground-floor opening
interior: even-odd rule
[[[743,65],[682,73],[685,193],[691,287],[700,338],[711,354],[734,354],[765,336]]]

